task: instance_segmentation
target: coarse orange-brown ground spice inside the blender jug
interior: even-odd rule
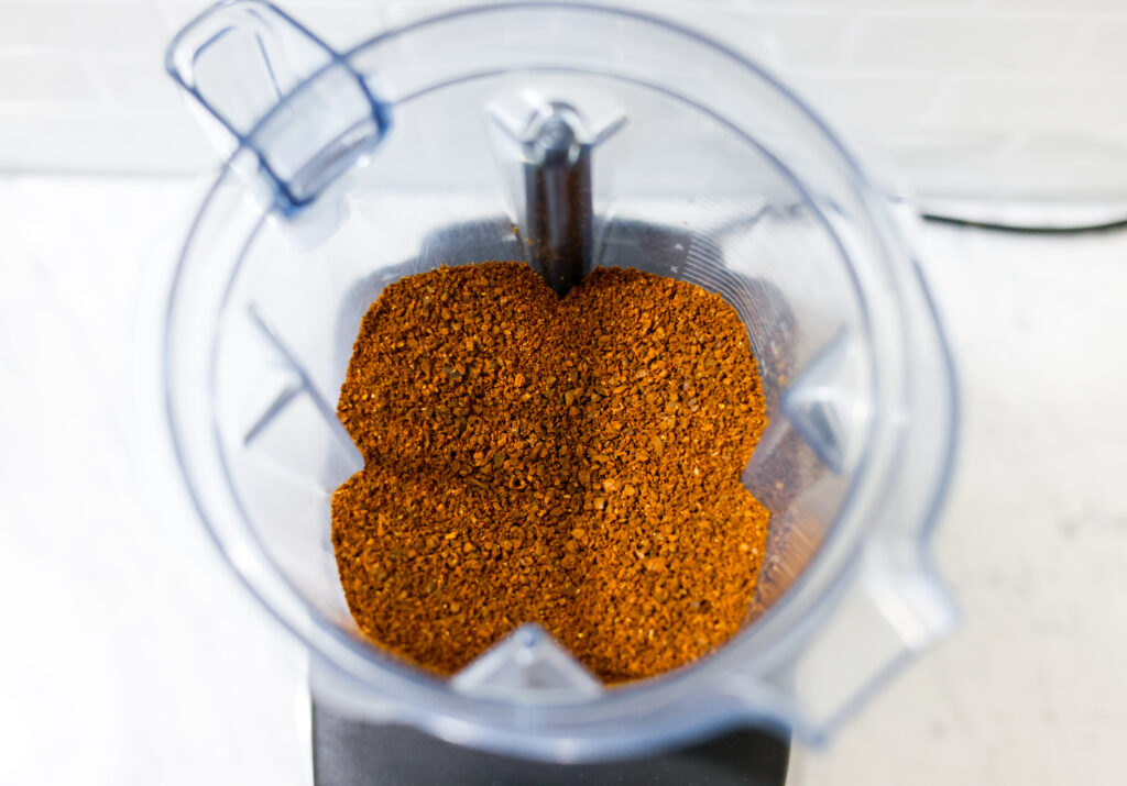
[[[364,316],[337,412],[365,466],[332,543],[380,646],[451,673],[536,622],[615,682],[744,623],[767,512],[739,474],[766,418],[719,296],[619,268],[564,298],[517,262],[409,276]]]

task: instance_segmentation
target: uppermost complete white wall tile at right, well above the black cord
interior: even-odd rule
[[[868,69],[1044,72],[1057,65],[1076,28],[1055,17],[872,16],[861,20],[850,62]]]

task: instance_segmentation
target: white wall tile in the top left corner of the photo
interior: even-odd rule
[[[148,2],[0,6],[0,50],[157,53],[163,38]]]

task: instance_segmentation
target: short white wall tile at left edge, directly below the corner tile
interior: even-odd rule
[[[83,63],[76,57],[0,53],[0,108],[96,106],[104,100]]]

